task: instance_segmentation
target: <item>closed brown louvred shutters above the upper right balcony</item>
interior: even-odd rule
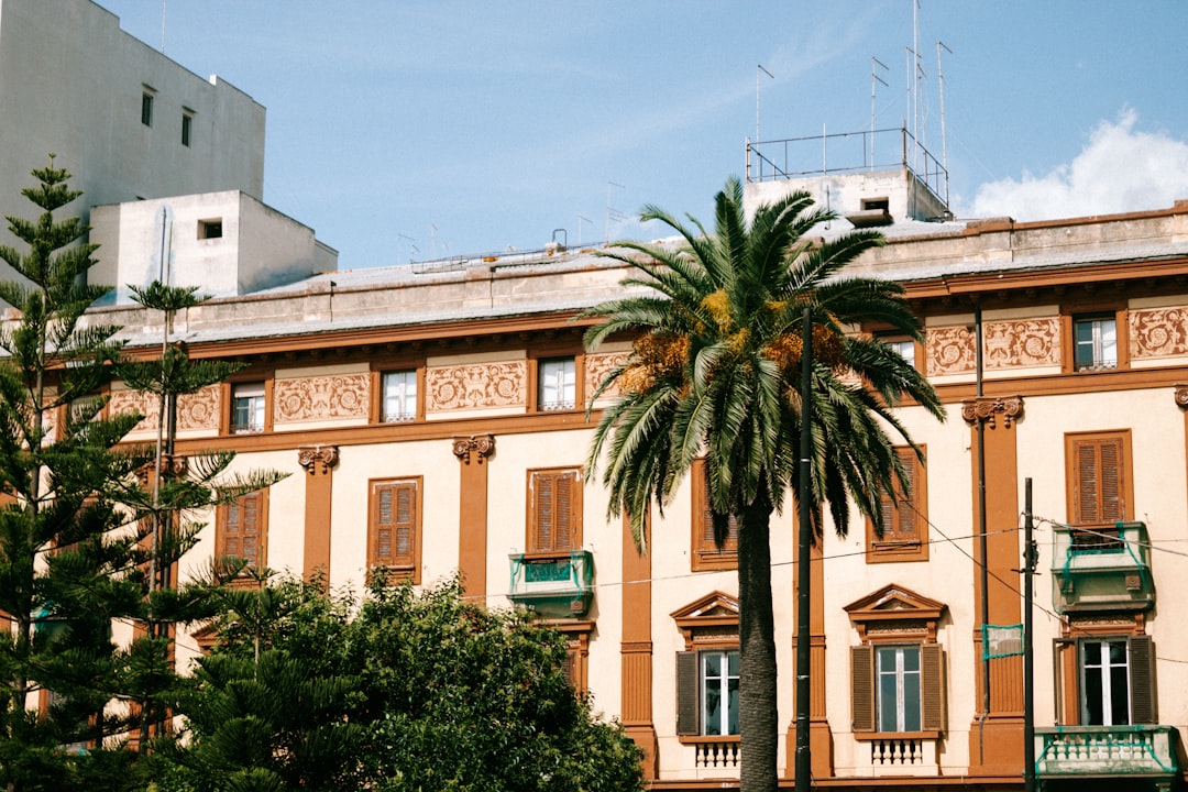
[[[1073,525],[1110,525],[1126,519],[1125,438],[1072,441]]]

